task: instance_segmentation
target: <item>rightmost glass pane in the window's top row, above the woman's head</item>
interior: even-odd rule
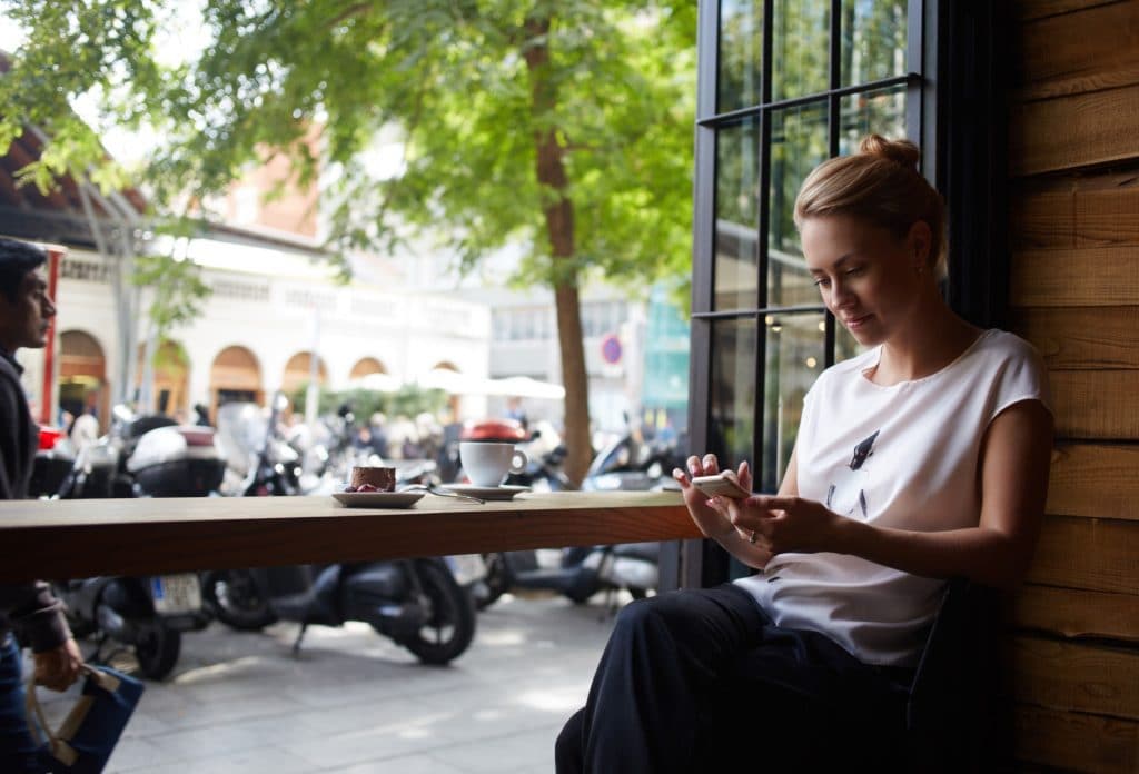
[[[843,85],[906,74],[907,0],[843,0]]]

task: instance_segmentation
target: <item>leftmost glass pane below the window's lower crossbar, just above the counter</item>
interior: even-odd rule
[[[720,458],[721,467],[754,459],[755,329],[755,318],[712,323],[707,451]]]

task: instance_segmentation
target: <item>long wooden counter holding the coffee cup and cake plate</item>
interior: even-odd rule
[[[677,492],[526,493],[409,509],[320,497],[0,502],[0,583],[699,537]]]

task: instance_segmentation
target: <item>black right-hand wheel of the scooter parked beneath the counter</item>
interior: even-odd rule
[[[449,664],[475,637],[475,606],[444,566],[416,562],[416,571],[431,601],[431,616],[402,644],[424,664]]]

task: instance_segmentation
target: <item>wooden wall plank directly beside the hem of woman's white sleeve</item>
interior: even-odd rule
[[[1139,371],[1051,371],[1049,381],[1057,438],[1139,438]]]

